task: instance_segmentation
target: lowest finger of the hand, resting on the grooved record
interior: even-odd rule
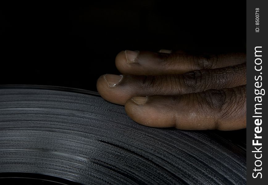
[[[133,97],[125,109],[134,121],[151,127],[238,130],[246,128],[246,86],[179,96]]]

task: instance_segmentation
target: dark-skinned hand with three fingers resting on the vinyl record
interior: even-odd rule
[[[100,76],[97,89],[142,125],[238,130],[246,128],[245,61],[243,53],[121,51],[115,65],[124,75]]]

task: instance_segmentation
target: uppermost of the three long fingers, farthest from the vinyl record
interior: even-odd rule
[[[181,53],[153,53],[149,51],[121,51],[115,65],[122,74],[162,75],[181,74],[200,69],[223,68],[245,63],[245,54],[186,55]]]

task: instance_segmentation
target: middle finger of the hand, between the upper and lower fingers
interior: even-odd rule
[[[134,96],[178,95],[207,89],[231,88],[246,84],[246,64],[197,70],[180,75],[103,75],[97,81],[100,95],[124,105]]]

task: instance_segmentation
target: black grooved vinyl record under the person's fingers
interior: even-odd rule
[[[2,86],[0,184],[246,183],[246,150],[222,132],[143,126],[96,95]]]

